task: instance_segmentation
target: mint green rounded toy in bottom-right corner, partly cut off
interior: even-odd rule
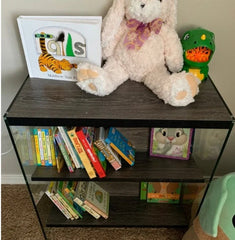
[[[211,182],[193,225],[182,240],[235,239],[235,172]]]

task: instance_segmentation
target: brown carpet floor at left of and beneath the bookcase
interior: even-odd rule
[[[2,240],[43,240],[25,185],[2,185]],[[49,240],[181,240],[181,228],[47,228]]]

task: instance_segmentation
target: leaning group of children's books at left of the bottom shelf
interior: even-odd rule
[[[67,219],[109,217],[109,193],[95,182],[50,182],[45,193]]]

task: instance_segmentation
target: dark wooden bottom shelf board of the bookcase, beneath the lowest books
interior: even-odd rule
[[[50,206],[47,227],[186,227],[189,224],[184,205],[147,203],[138,197],[111,197],[109,218],[98,220],[88,213],[82,219],[67,220],[44,195],[38,209],[45,206],[47,211]]]

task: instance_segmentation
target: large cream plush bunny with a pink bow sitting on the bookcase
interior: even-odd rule
[[[103,21],[103,68],[78,66],[77,85],[105,96],[128,79],[143,82],[165,103],[194,102],[200,81],[180,72],[183,50],[175,31],[177,0],[114,0]]]

